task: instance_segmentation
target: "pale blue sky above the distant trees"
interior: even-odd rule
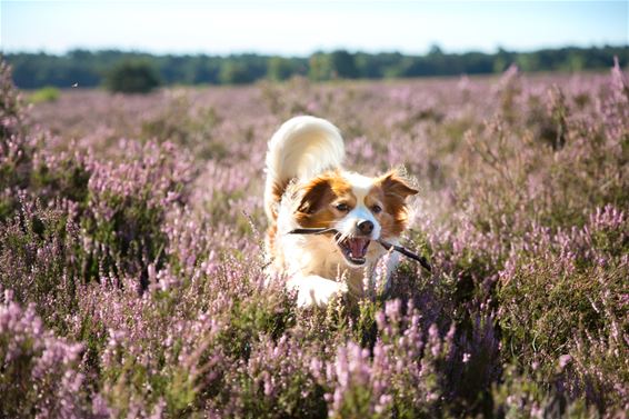
[[[448,52],[627,46],[628,3],[0,0],[0,48],[306,56],[337,48],[425,53],[433,43]]]

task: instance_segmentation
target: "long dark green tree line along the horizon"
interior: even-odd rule
[[[382,79],[426,76],[488,74],[505,71],[516,63],[522,71],[581,71],[606,69],[618,57],[629,63],[629,46],[542,49],[516,52],[499,49],[495,53],[447,53],[433,46],[423,56],[399,52],[314,52],[310,57],[279,57],[242,53],[232,56],[163,54],[118,50],[77,49],[64,54],[6,53],[13,67],[13,81],[22,89],[44,86],[67,88],[97,87],[108,74],[129,62],[150,68],[161,84],[243,84],[260,79],[281,81],[293,76],[316,81],[333,79]]]

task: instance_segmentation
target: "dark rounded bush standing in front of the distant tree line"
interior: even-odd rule
[[[160,78],[149,62],[122,61],[107,73],[106,86],[112,92],[148,93],[160,86]]]

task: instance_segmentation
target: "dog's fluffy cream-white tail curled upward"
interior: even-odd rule
[[[292,179],[308,179],[340,167],[345,158],[339,129],[325,119],[296,117],[269,141],[264,211],[277,217],[277,204]]]

